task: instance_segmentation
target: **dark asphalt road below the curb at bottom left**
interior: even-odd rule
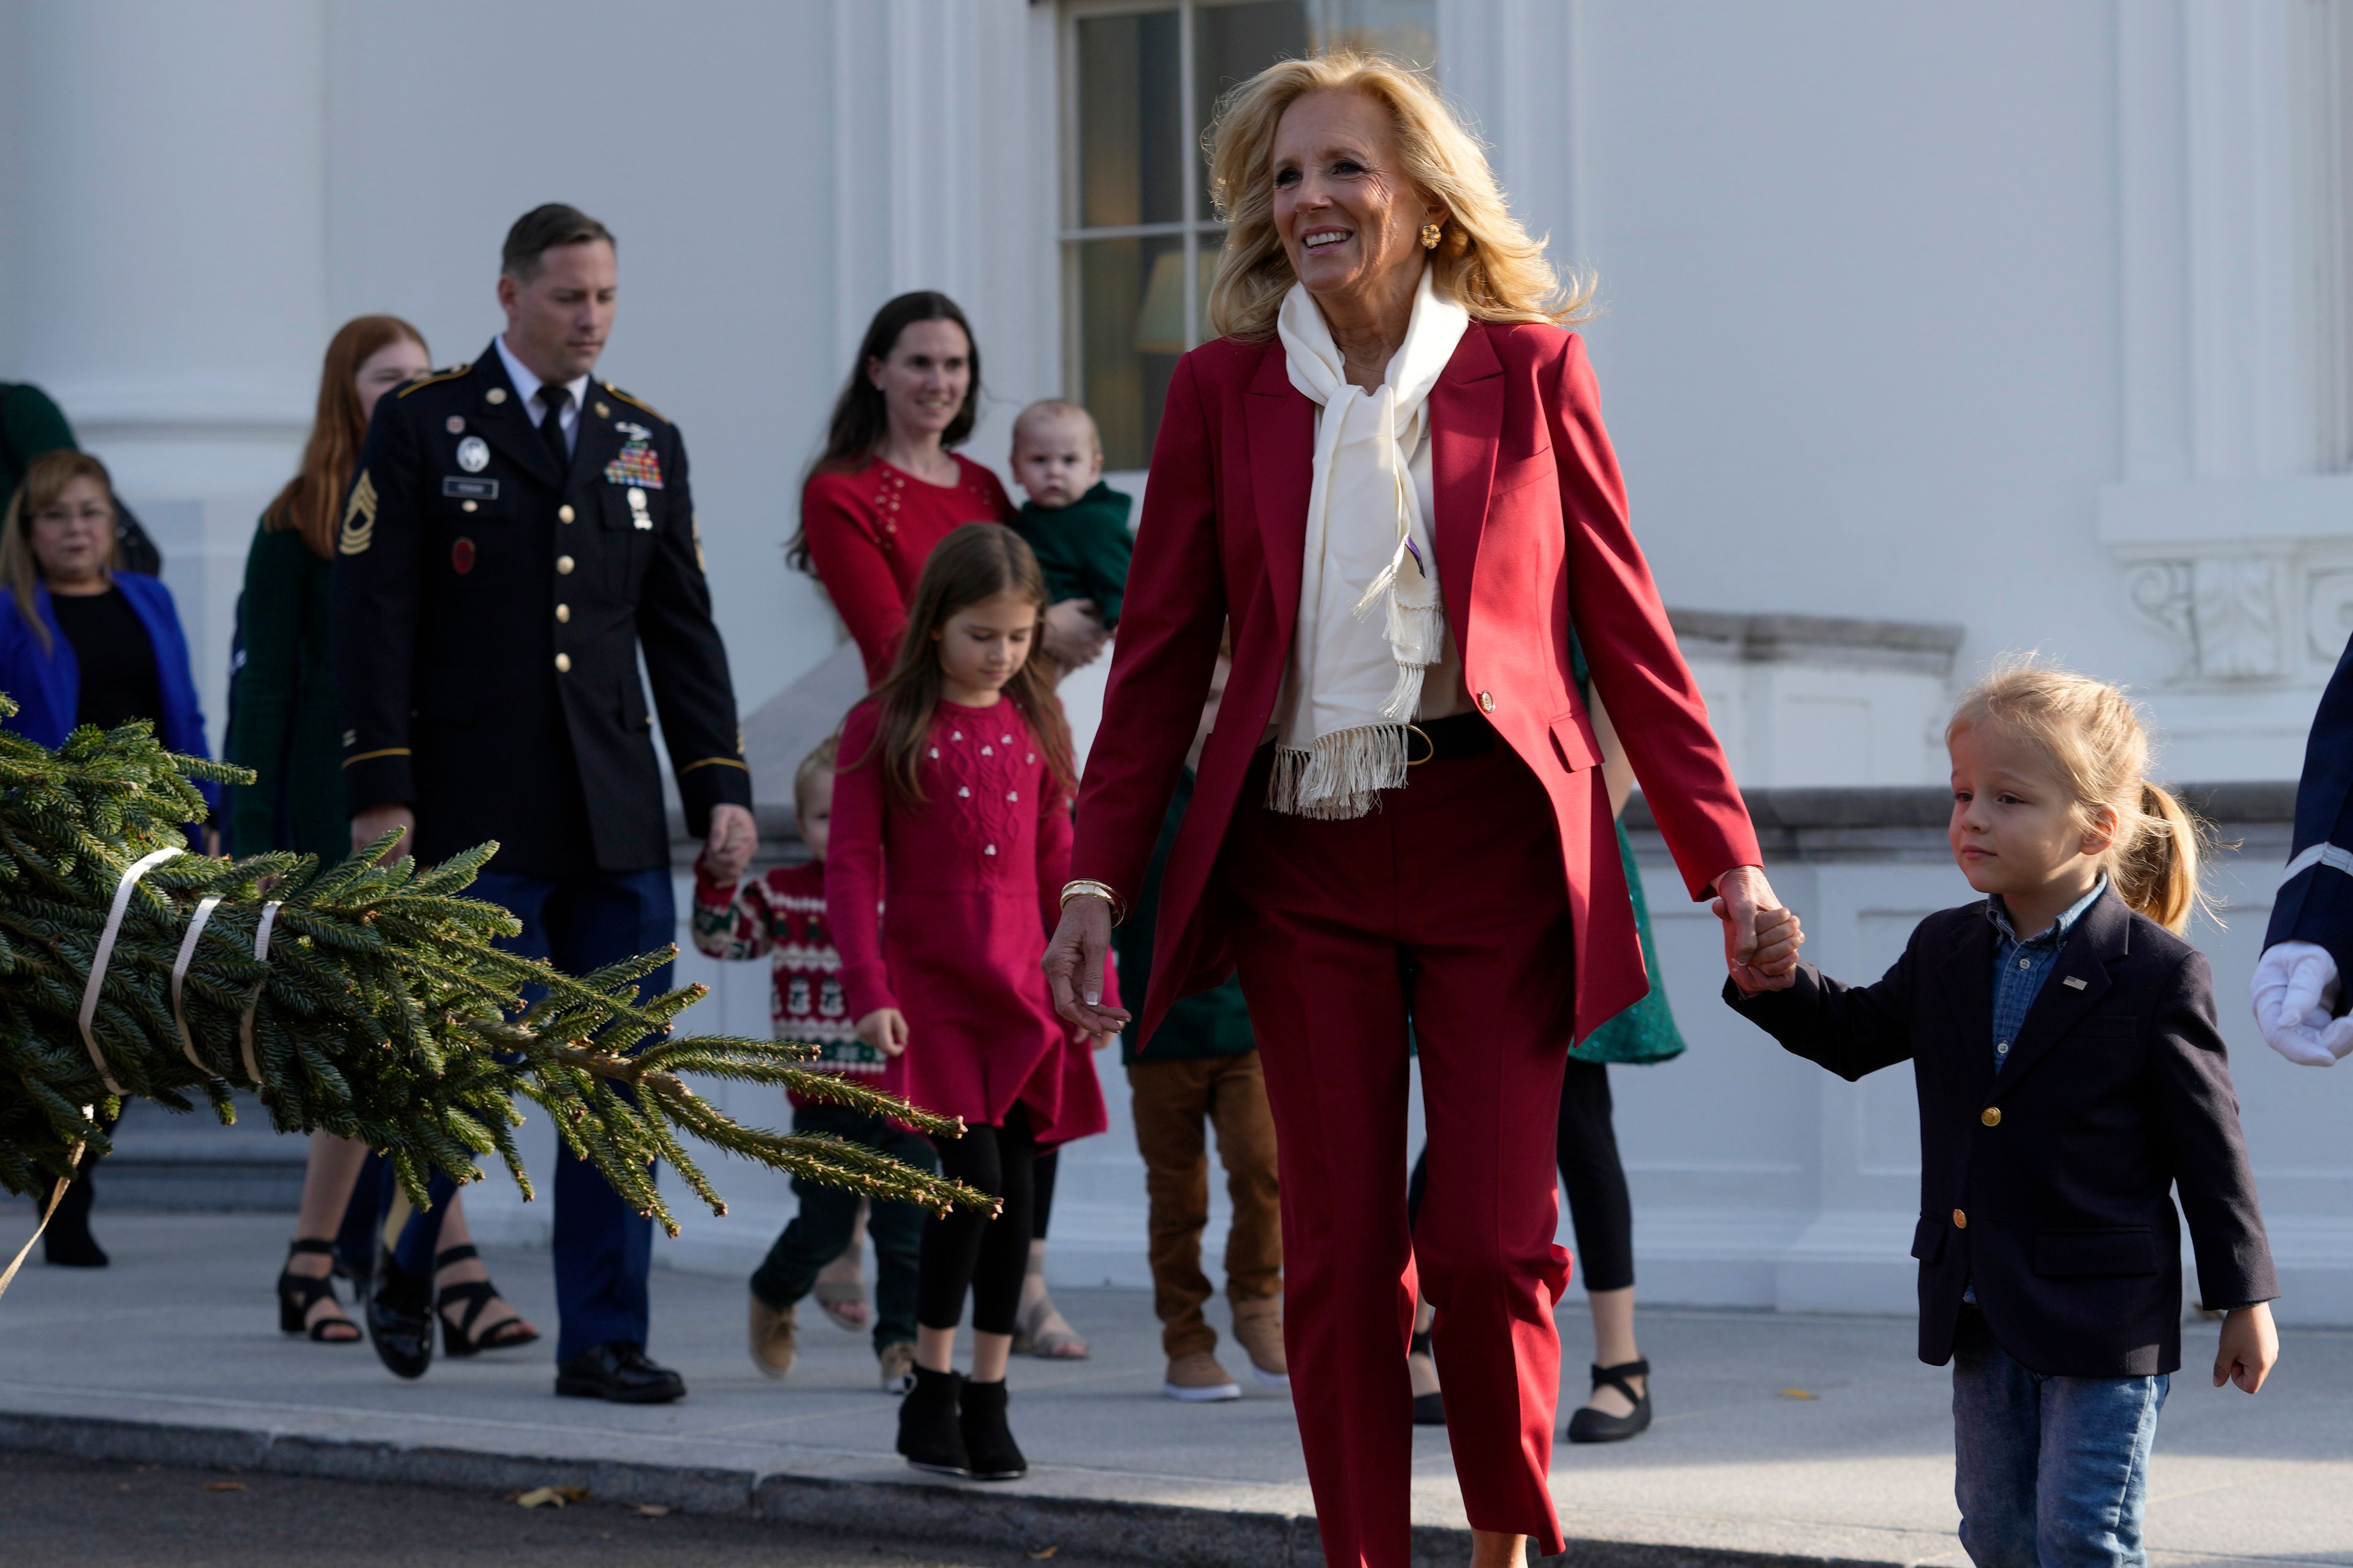
[[[595,1500],[12,1458],[9,1568],[1096,1568],[1056,1552],[920,1549]]]

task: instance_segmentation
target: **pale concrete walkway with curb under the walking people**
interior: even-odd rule
[[[1146,1561],[1320,1561],[1289,1396],[1160,1399],[1141,1293],[1059,1293],[1094,1359],[1019,1361],[1014,1427],[1033,1469],[1012,1486],[958,1486],[901,1467],[894,1401],[875,1389],[864,1338],[814,1309],[793,1378],[760,1378],[732,1279],[654,1274],[654,1354],[685,1373],[689,1399],[621,1408],[553,1399],[546,1342],[440,1361],[405,1385],[367,1347],[280,1338],[268,1284],[285,1218],[101,1208],[96,1229],[115,1267],[33,1262],[0,1302],[0,1446],[501,1490],[584,1483],[871,1535]],[[492,1248],[489,1260],[553,1331],[546,1255]],[[1577,1385],[1579,1316],[1565,1314]],[[2289,1331],[2259,1399],[2207,1387],[2214,1331],[2186,1333],[2191,1366],[2158,1436],[2153,1561],[2353,1568],[2353,1333]],[[1913,1359],[1908,1319],[1649,1309],[1642,1342],[1659,1366],[1652,1432],[1555,1450],[1577,1561],[1967,1561],[1946,1378]],[[1442,1432],[1417,1434],[1414,1514],[1426,1561],[1464,1559]]]

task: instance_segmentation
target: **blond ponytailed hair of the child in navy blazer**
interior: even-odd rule
[[[2148,729],[2122,686],[2033,656],[2005,658],[1960,698],[1944,738],[1951,743],[1979,724],[2042,752],[2080,825],[2089,827],[2099,806],[2115,809],[2115,842],[2101,870],[2132,910],[2174,936],[2198,910],[2212,917],[2198,867],[2214,849],[2214,830],[2144,776]]]

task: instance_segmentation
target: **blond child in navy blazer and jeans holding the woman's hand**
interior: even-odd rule
[[[2181,1229],[2224,1312],[2214,1387],[2264,1387],[2280,1293],[2214,1025],[2198,825],[2148,783],[2122,691],[1998,668],[1946,726],[1953,860],[1878,985],[1734,971],[1725,1001],[1845,1079],[1911,1060],[1920,1359],[1953,1363],[1953,1493],[1977,1568],[2141,1568],[2158,1410],[2181,1366]],[[1758,922],[1758,964],[1795,917]]]

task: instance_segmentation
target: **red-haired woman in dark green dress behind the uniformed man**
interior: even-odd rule
[[[424,334],[395,315],[362,315],[327,343],[318,418],[287,482],[254,531],[245,557],[245,599],[238,609],[245,646],[231,675],[228,759],[254,771],[254,783],[231,790],[228,842],[233,853],[292,849],[334,865],[351,856],[351,813],[344,806],[341,717],[334,698],[329,583],[334,529],[367,437],[376,400],[426,374],[433,360]],[[322,1345],[355,1345],[360,1328],[334,1295],[339,1232],[355,1237],[346,1258],[355,1279],[374,1262],[376,1185],[360,1204],[353,1187],[369,1164],[365,1143],[311,1133],[294,1244],[278,1276],[278,1326]],[[466,1237],[459,1199],[442,1222],[438,1284],[449,1354],[529,1345],[539,1333],[499,1300]],[[346,1222],[346,1211],[365,1218]],[[348,1251],[348,1248],[346,1248]],[[362,1286],[365,1288],[365,1286]]]

